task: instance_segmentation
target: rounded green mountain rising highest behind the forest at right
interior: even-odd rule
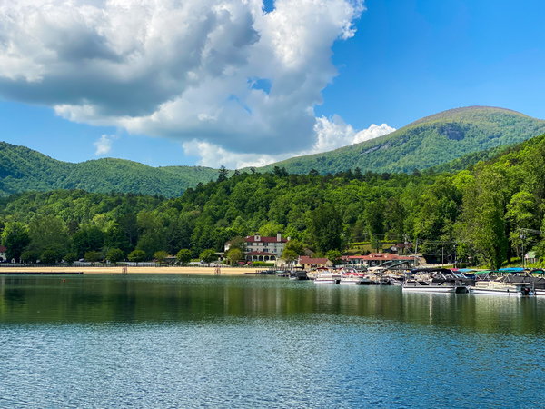
[[[445,164],[462,155],[519,143],[545,132],[545,121],[508,109],[470,106],[427,116],[379,138],[323,154],[293,157],[263,167],[289,173],[412,172]],[[466,157],[471,159],[471,156]]]

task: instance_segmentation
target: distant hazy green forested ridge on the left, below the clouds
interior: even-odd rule
[[[173,197],[182,195],[189,186],[215,179],[217,173],[202,166],[151,167],[111,158],[71,164],[25,146],[0,142],[0,195],[30,190],[84,189]]]

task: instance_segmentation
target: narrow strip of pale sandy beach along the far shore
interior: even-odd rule
[[[266,268],[220,267],[220,275],[243,275],[256,273]],[[215,267],[2,267],[0,274],[200,274],[213,275]]]

